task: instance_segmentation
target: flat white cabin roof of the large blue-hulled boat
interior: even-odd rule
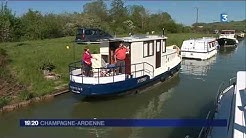
[[[160,35],[133,35],[128,37],[115,37],[109,41],[123,41],[123,42],[140,42],[140,41],[149,41],[149,40],[161,40],[167,39]]]

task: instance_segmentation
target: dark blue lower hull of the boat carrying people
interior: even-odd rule
[[[141,87],[150,86],[158,81],[164,81],[176,72],[179,71],[181,62],[170,69],[152,79],[148,75],[144,75],[138,78],[129,78],[125,81],[119,81],[107,84],[81,84],[73,81],[69,82],[69,90],[78,96],[85,97],[101,97],[128,94],[129,91],[135,92],[140,90]]]

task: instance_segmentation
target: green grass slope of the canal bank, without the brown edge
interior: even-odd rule
[[[167,36],[168,45],[175,44],[181,46],[182,41],[185,39],[211,35],[168,34]],[[0,43],[0,48],[6,51],[7,58],[9,59],[8,65],[4,70],[8,72],[6,75],[10,74],[12,79],[16,80],[15,83],[24,86],[23,89],[16,90],[18,92],[12,96],[12,101],[13,97],[14,99],[18,99],[14,101],[28,100],[32,97],[52,93],[55,89],[62,86],[66,87],[69,81],[68,64],[81,59],[85,46],[89,46],[92,53],[99,51],[99,45],[78,45],[74,44],[72,42],[73,40],[74,37],[65,37],[38,41]],[[69,46],[69,49],[67,49],[67,46]],[[53,72],[59,74],[60,78],[57,80],[47,80],[44,78],[40,68],[47,64],[55,66]],[[3,74],[3,72],[0,74]]]

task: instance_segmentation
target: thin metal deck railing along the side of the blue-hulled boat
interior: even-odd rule
[[[139,77],[138,73],[140,73],[141,76],[149,75],[150,77],[154,77],[154,66],[147,62],[131,64],[130,68],[132,71],[124,74],[125,79]],[[111,76],[112,82],[115,82],[115,77],[119,75],[116,73],[118,69],[119,69],[119,66],[92,68],[91,74],[93,75],[90,77],[97,78],[98,84],[100,83],[101,77],[108,77],[108,76]],[[81,64],[81,61],[77,61],[77,62],[73,62],[69,64],[69,75],[70,75],[70,79],[73,76],[81,77],[81,82],[84,83],[84,77],[85,77],[84,67],[83,67],[83,64]]]

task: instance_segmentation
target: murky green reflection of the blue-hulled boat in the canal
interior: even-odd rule
[[[166,82],[144,90],[141,94],[99,102],[78,102],[72,118],[162,118],[165,102],[179,84],[178,74]],[[87,110],[84,110],[87,109]],[[144,128],[77,128],[88,137],[140,137]]]

